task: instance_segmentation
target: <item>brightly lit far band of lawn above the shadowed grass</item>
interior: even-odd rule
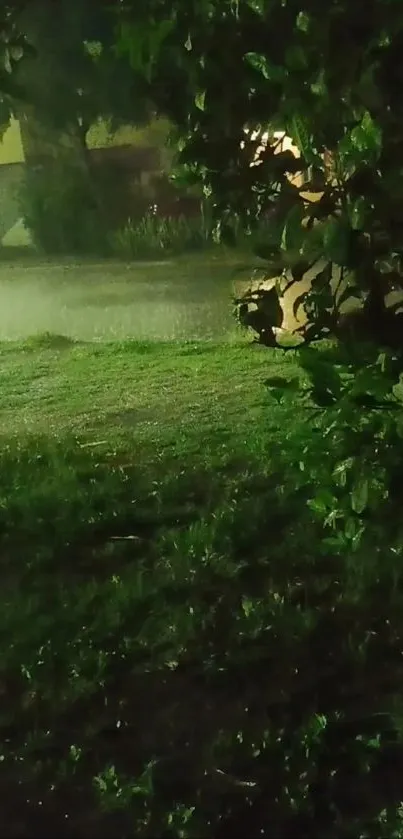
[[[3,345],[1,432],[53,430],[85,441],[106,434],[108,451],[139,446],[143,457],[190,447],[204,456],[210,445],[242,445],[256,421],[267,444],[280,415],[267,410],[263,386],[273,369],[290,376],[298,370],[280,352],[269,362],[267,351],[242,343],[97,345],[34,337]]]

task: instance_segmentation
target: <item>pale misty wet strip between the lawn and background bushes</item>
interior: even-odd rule
[[[0,340],[46,330],[91,341],[238,337],[230,298],[245,259],[254,264],[222,249],[146,263],[0,259]]]

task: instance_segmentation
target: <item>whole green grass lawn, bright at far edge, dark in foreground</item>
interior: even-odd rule
[[[304,440],[328,456],[312,406],[264,386],[302,375],[242,343],[1,345],[0,835],[391,835],[359,832],[399,795],[390,660],[293,484]]]

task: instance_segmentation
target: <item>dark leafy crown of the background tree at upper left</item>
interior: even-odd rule
[[[151,113],[147,83],[128,74],[116,55],[114,22],[113,4],[88,0],[35,0],[18,17],[33,48],[15,73],[29,114],[83,150],[98,118],[144,124]],[[19,111],[23,115],[24,107]]]

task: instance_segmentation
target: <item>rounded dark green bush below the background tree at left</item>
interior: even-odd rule
[[[40,251],[49,255],[107,252],[107,225],[100,201],[78,166],[54,161],[46,167],[28,168],[20,206]]]

